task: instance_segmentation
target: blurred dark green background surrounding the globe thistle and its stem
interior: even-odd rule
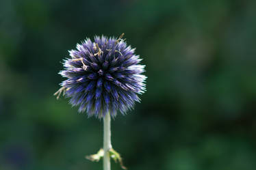
[[[120,36],[147,91],[112,121],[131,170],[256,167],[256,1],[1,0],[0,170],[99,170],[103,122],[56,100],[77,42]],[[112,169],[120,169],[112,163]]]

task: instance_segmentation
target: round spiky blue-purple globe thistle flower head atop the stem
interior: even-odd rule
[[[89,38],[77,49],[69,51],[71,58],[64,59],[64,70],[60,74],[67,78],[56,93],[70,97],[79,112],[88,116],[104,117],[117,111],[125,114],[139,102],[137,94],[145,91],[146,76],[139,55],[127,46],[122,34],[119,38],[95,36]]]

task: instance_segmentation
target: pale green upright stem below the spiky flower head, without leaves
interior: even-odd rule
[[[104,124],[104,134],[103,134],[103,170],[110,170],[110,149],[112,149],[111,145],[111,130],[110,130],[110,113],[107,113],[103,118]]]

